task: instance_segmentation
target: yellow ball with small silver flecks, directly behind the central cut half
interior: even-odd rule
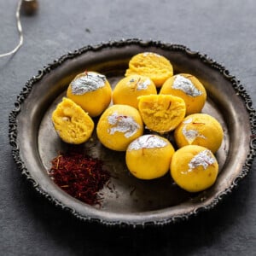
[[[153,81],[148,77],[133,74],[116,84],[113,89],[113,104],[125,104],[137,108],[137,97],[150,94],[157,94]]]

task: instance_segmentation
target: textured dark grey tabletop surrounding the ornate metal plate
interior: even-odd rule
[[[0,0],[0,53],[15,47],[17,1]],[[87,44],[121,38],[184,44],[223,64],[256,100],[254,0],[42,0],[22,16],[25,42],[0,59],[1,255],[255,255],[256,163],[211,212],[161,229],[119,230],[84,224],[39,196],[11,156],[9,112],[44,65]]]

